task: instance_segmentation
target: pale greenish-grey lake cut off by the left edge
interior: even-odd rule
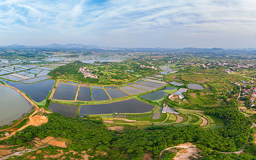
[[[31,108],[32,105],[15,89],[0,86],[0,126],[11,124]]]

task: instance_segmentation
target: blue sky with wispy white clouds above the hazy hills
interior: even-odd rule
[[[0,46],[256,48],[256,0],[0,0]]]

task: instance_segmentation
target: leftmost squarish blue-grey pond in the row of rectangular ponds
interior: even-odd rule
[[[57,90],[54,93],[53,98],[57,100],[75,100],[75,94],[77,85],[69,85],[65,83],[59,83]]]

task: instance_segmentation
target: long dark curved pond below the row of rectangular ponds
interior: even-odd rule
[[[82,105],[80,108],[80,115],[91,114],[110,114],[110,113],[143,113],[149,112],[154,108],[153,105],[143,103],[136,99],[129,99],[126,101],[117,101],[108,104],[98,105]]]

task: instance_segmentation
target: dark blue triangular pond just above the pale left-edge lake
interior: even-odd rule
[[[37,83],[32,84],[23,84],[20,82],[12,82],[8,80],[2,80],[7,85],[11,85],[18,90],[23,91],[25,94],[29,95],[32,100],[40,102],[43,101],[46,96],[48,96],[49,92],[53,89],[54,80],[44,80]]]

